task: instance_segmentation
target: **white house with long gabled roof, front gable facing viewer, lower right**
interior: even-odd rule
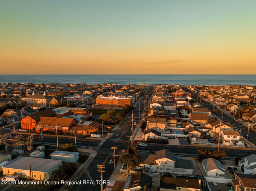
[[[202,160],[202,166],[206,176],[214,178],[225,178],[226,166],[221,164],[219,160],[214,158],[206,158]]]

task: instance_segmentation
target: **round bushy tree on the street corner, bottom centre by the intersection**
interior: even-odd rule
[[[119,163],[127,165],[127,171],[129,173],[131,168],[135,168],[141,164],[142,159],[139,155],[122,154],[119,158]]]

